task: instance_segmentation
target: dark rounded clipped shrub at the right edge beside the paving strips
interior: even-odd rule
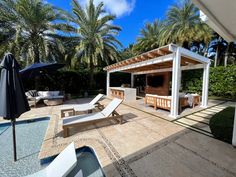
[[[232,143],[234,107],[227,107],[210,119],[210,129],[215,138]]]

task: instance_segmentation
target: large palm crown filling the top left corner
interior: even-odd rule
[[[54,49],[61,37],[57,31],[69,30],[69,25],[56,23],[65,20],[60,12],[42,0],[1,0],[0,49],[29,62],[55,59]]]

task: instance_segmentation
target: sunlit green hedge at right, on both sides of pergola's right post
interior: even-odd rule
[[[182,89],[186,92],[202,92],[203,70],[183,71]],[[209,95],[236,98],[236,65],[210,68]]]

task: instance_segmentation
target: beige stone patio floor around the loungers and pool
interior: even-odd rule
[[[67,104],[85,101],[88,100],[71,100]],[[108,102],[108,99],[101,101],[104,105]],[[202,110],[204,112],[195,114],[201,115],[202,119],[204,115],[209,118],[209,114],[213,115],[213,112],[218,112],[229,104],[231,103],[215,104],[207,110]],[[61,107],[63,105],[33,108],[22,115],[22,119],[51,116],[39,154],[40,159],[60,153],[74,141],[77,148],[86,145],[96,151],[107,177],[236,176],[236,149],[230,144],[193,131],[176,122],[186,123],[186,117],[171,122],[122,104],[118,112],[124,115],[125,123],[120,125],[113,121],[106,121],[78,127],[71,129],[69,137],[63,138]],[[207,122],[205,119],[200,121]]]

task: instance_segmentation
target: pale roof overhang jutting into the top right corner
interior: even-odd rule
[[[236,41],[236,0],[192,0],[200,18],[228,42]]]

